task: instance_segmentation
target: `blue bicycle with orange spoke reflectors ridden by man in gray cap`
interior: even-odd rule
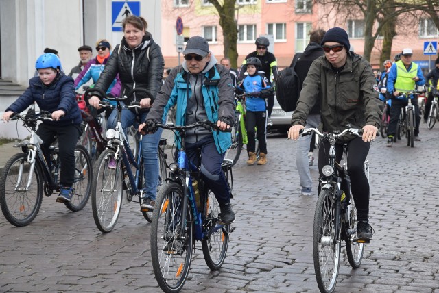
[[[154,275],[164,292],[179,292],[191,266],[195,240],[202,242],[204,260],[211,270],[219,270],[228,248],[230,225],[219,219],[219,203],[200,177],[200,164],[189,162],[185,152],[185,131],[193,127],[216,129],[210,121],[174,126],[154,123],[180,133],[181,148],[176,163],[171,163],[170,176],[158,192],[152,215],[151,257]],[[200,153],[199,160],[200,162]],[[233,161],[224,159],[222,170],[233,188]]]

